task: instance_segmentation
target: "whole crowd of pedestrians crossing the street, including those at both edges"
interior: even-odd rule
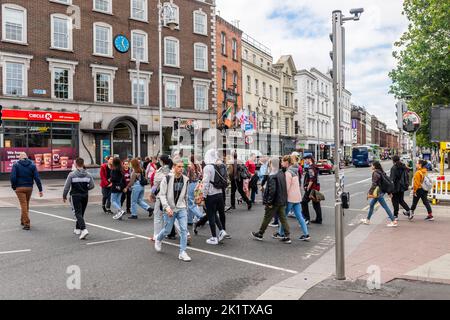
[[[100,187],[102,210],[112,215],[115,221],[139,217],[139,207],[149,217],[153,217],[153,236],[151,240],[157,252],[162,250],[165,238],[180,239],[179,259],[191,261],[186,252],[192,242],[190,230],[195,235],[199,229],[209,224],[208,245],[217,246],[231,239],[227,230],[226,213],[237,209],[237,204],[245,203],[252,210],[257,202],[258,191],[264,206],[264,216],[257,231],[251,232],[256,240],[263,240],[268,227],[274,227],[272,238],[281,243],[292,243],[291,235],[296,230],[290,228],[288,216],[295,217],[301,235],[298,239],[309,241],[310,223],[322,224],[319,170],[311,156],[303,159],[299,154],[257,159],[250,155],[246,162],[240,161],[234,152],[230,158],[222,157],[215,149],[206,152],[203,161],[192,156],[183,161],[180,156],[167,155],[121,160],[106,157],[100,168]],[[398,226],[400,206],[409,220],[419,200],[424,203],[428,215],[426,220],[433,221],[432,209],[428,201],[431,181],[427,175],[427,163],[419,161],[413,177],[413,203],[405,202],[405,192],[410,188],[409,168],[398,157],[393,157],[394,165],[390,176],[379,162],[372,165],[372,184],[368,192],[370,208],[367,218],[361,223],[370,224],[376,203],[380,203],[389,217],[388,227]],[[20,155],[11,173],[11,185],[21,206],[21,225],[30,230],[29,202],[36,183],[40,196],[43,187],[36,166],[25,153]],[[68,175],[63,190],[63,201],[70,201],[76,218],[74,233],[83,240],[89,234],[84,220],[89,202],[89,190],[94,188],[94,179],[85,169],[84,160],[75,160],[72,172]],[[148,197],[145,197],[147,189]],[[230,192],[230,206],[226,209],[227,193]],[[236,192],[240,198],[236,198]],[[386,203],[385,196],[392,199],[394,212]],[[236,201],[237,200],[237,201]],[[309,204],[315,211],[311,220]],[[125,206],[124,206],[125,205]],[[192,228],[190,228],[192,227]]]

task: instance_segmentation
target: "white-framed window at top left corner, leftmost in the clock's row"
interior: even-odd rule
[[[2,5],[2,40],[27,43],[27,10],[15,4]]]

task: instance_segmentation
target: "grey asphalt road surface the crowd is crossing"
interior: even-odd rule
[[[371,172],[345,172],[346,191],[351,193],[351,210],[345,214],[348,234],[367,212]],[[295,219],[289,219],[290,245],[271,239],[273,228],[263,242],[252,240],[250,232],[258,230],[263,207],[257,204],[249,212],[242,206],[227,215],[233,238],[224,244],[207,245],[209,227],[199,229],[188,251],[189,263],[178,260],[177,241],[155,252],[148,240],[153,220],[144,214],[139,220],[114,221],[99,205],[90,205],[90,234],[80,241],[72,233],[67,206],[31,208],[30,232],[21,230],[18,208],[0,208],[0,299],[256,299],[334,246],[334,176],[322,175],[320,182],[326,196],[324,218],[322,225],[310,226],[310,242],[297,240],[301,231]],[[312,208],[310,212],[314,218]],[[67,286],[73,270],[80,271],[79,290]]]

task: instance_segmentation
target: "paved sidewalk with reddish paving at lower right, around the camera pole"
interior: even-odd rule
[[[387,228],[380,209],[371,225],[350,233],[345,239],[346,281],[334,280],[333,248],[259,299],[450,299],[450,206],[433,206],[432,222],[424,221],[425,212],[419,205],[413,221],[402,216],[399,227]],[[370,290],[368,279],[380,283],[380,290]]]

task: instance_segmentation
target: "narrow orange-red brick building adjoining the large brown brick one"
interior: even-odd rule
[[[229,128],[242,109],[242,31],[217,16],[216,39],[218,127]]]

